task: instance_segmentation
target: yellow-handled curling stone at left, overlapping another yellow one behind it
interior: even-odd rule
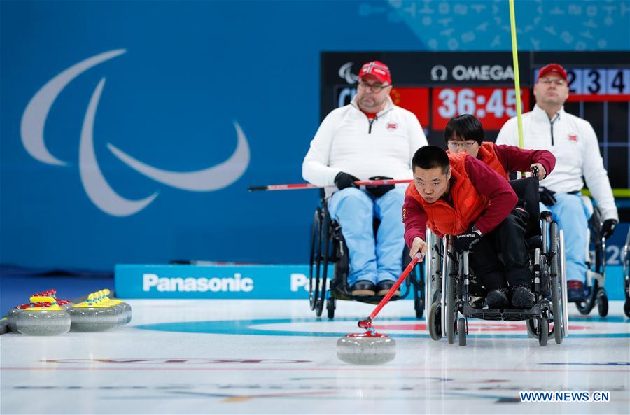
[[[94,293],[87,296],[87,301],[74,304],[68,312],[73,331],[100,332],[118,325],[118,311],[98,302]]]

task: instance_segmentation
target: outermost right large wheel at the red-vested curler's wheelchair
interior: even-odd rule
[[[563,306],[563,290],[566,290],[566,286],[562,286],[563,281],[561,278],[561,258],[563,253],[560,251],[560,238],[558,231],[558,224],[551,223],[549,230],[549,254],[551,256],[551,288],[552,288],[552,314],[554,318],[554,339],[556,344],[562,343],[563,337],[563,312],[566,312],[566,308]],[[540,329],[540,328],[539,328]],[[547,335],[549,334],[549,321],[547,321]],[[543,330],[544,331],[544,330]],[[540,330],[538,330],[540,339]],[[547,340],[545,340],[545,345]],[[544,346],[543,344],[540,344]]]

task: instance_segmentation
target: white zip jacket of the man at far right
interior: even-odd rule
[[[554,171],[540,181],[540,185],[554,192],[575,192],[584,187],[584,176],[603,220],[619,220],[597,136],[588,121],[566,113],[563,107],[552,122],[547,113],[535,105],[532,111],[523,114],[523,141],[525,148],[549,150],[556,156]],[[516,117],[505,122],[496,143],[519,146]]]

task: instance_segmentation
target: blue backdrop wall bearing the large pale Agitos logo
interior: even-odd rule
[[[522,50],[630,50],[629,1],[516,2]],[[306,262],[319,54],[510,50],[500,1],[1,1],[0,262]],[[395,74],[395,68],[393,68]]]

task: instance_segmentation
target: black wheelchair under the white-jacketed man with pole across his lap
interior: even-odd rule
[[[351,295],[348,283],[350,271],[349,252],[337,220],[331,220],[325,193],[320,194],[320,205],[315,210],[313,227],[311,228],[311,250],[309,261],[309,304],[315,315],[320,317],[323,305],[326,305],[328,318],[335,318],[337,300],[356,300],[369,304],[378,304],[382,297],[356,297]],[[374,230],[378,227],[374,220]],[[409,248],[405,244],[402,252],[402,269],[411,262]],[[329,265],[332,267],[332,278],[328,275]],[[414,299],[416,318],[422,318],[424,312],[424,283],[422,274],[416,267],[405,279],[404,288],[399,297],[391,301],[402,300],[410,294]]]

